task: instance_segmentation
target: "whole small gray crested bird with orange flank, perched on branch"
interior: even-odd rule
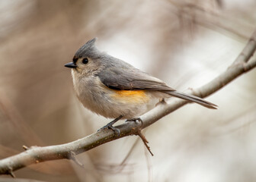
[[[89,110],[105,118],[115,118],[103,128],[120,131],[113,124],[121,118],[136,120],[159,99],[175,96],[197,102],[206,108],[216,108],[197,96],[180,93],[162,80],[152,77],[132,65],[99,51],[91,39],[75,53],[72,68],[75,93]]]

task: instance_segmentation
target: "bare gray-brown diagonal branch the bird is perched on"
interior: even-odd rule
[[[249,39],[247,45],[245,45],[245,49],[243,49],[240,55],[238,55],[238,58],[235,59],[233,64],[224,73],[198,89],[188,90],[187,93],[200,97],[209,96],[221,89],[223,86],[226,86],[226,84],[230,83],[236,77],[250,71],[252,68],[256,67],[256,59],[250,60],[255,49],[256,30],[251,36],[251,39]],[[155,106],[155,108],[140,117],[142,122],[127,122],[125,124],[118,125],[117,128],[120,129],[120,136],[115,135],[113,130],[101,130],[89,135],[88,137],[75,140],[71,143],[56,146],[25,147],[26,151],[21,152],[18,155],[4,158],[0,161],[0,174],[14,175],[13,171],[24,168],[27,165],[62,158],[72,159],[81,165],[80,162],[75,159],[75,155],[112,140],[117,140],[130,135],[139,135],[140,130],[145,127],[149,127],[149,125],[155,123],[158,119],[170,114],[178,108],[181,108],[181,106],[185,104],[187,104],[187,101],[181,99],[169,99],[167,102],[160,102]]]

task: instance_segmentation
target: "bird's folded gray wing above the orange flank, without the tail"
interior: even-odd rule
[[[98,77],[110,89],[155,91],[174,91],[162,80],[152,77],[135,67],[107,67],[98,73]]]

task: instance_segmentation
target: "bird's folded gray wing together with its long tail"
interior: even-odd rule
[[[175,89],[167,86],[162,80],[152,77],[145,72],[140,71],[134,67],[107,67],[98,73],[98,77],[105,86],[110,89],[119,90],[138,90],[146,89],[152,91],[161,91],[171,96],[188,100],[190,102],[197,102],[206,108],[216,109],[217,105],[208,102],[200,97],[190,94],[180,93]]]

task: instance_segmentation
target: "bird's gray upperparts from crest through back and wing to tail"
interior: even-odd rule
[[[98,76],[101,82],[110,89],[159,91],[190,102],[197,102],[206,108],[216,108],[216,105],[211,102],[207,102],[197,96],[179,93],[167,86],[162,80],[136,69],[125,61],[100,52],[94,45],[95,41],[96,38],[82,45],[75,53],[74,59],[85,57],[94,61],[94,65],[96,65],[96,67],[92,68],[94,76]],[[100,65],[100,67],[97,65]]]

